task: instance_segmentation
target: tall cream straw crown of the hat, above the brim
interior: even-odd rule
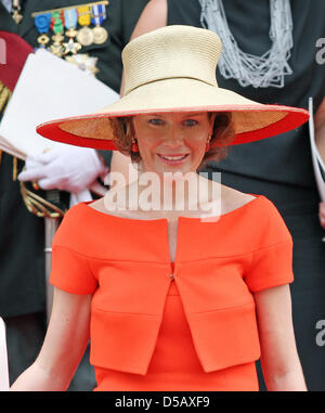
[[[211,30],[166,26],[135,38],[122,51],[125,95],[142,85],[191,78],[217,87],[221,40]]]

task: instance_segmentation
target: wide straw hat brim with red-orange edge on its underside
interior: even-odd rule
[[[109,118],[161,112],[231,112],[235,130],[231,145],[287,132],[309,118],[303,108],[261,104],[195,79],[174,78],[142,85],[100,112],[47,121],[37,132],[77,146],[116,150]]]

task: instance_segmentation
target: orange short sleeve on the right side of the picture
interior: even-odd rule
[[[245,282],[253,293],[294,281],[291,234],[276,207],[266,201],[266,208],[259,219],[259,246],[251,253],[245,274]]]

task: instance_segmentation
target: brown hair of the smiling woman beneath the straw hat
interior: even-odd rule
[[[208,113],[209,118],[212,113]],[[130,156],[133,164],[141,162],[140,152],[132,152],[132,138],[135,138],[132,116],[110,118],[110,125],[114,132],[113,141],[118,151],[123,155]],[[210,140],[210,145],[218,141],[223,146],[210,147],[199,165],[199,168],[206,166],[209,160],[220,162],[227,155],[226,145],[235,138],[235,131],[232,122],[232,114],[230,112],[218,113],[214,118],[213,132]]]

